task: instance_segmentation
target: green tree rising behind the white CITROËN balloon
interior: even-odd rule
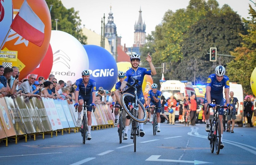
[[[45,0],[48,7],[52,6],[51,19],[52,19],[52,30],[56,29],[55,19],[59,19],[57,23],[57,29],[67,32],[74,36],[81,44],[85,45],[87,37],[83,35],[82,29],[80,28],[81,19],[78,16],[79,11],[75,11],[72,7],[67,9],[63,6],[60,0]]]

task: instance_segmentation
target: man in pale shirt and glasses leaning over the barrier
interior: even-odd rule
[[[39,91],[38,94],[33,94],[32,91],[32,85],[35,83],[35,74],[30,74],[29,80],[26,82],[23,82],[20,85],[20,89],[23,91],[23,95],[28,97],[37,97],[38,99],[41,99],[41,91]]]

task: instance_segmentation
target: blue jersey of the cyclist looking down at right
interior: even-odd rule
[[[223,87],[229,88],[229,78],[224,75],[221,82],[219,82],[216,78],[216,74],[211,74],[207,79],[206,86],[211,87],[211,93],[222,94]]]

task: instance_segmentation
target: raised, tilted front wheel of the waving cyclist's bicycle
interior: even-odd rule
[[[129,103],[133,106],[132,110],[130,111]],[[123,93],[121,96],[121,104],[124,109],[124,111],[131,117],[133,120],[136,120],[139,123],[144,123],[147,120],[147,112],[143,106],[143,104],[140,102],[139,99],[137,99],[137,107],[135,106],[135,96],[130,93]],[[139,112],[138,109],[141,106],[142,112]],[[136,116],[133,115],[133,111],[137,111]]]

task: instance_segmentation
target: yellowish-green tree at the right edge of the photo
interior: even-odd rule
[[[227,64],[227,76],[230,82],[237,82],[243,86],[244,94],[253,94],[250,86],[251,73],[256,66],[256,12],[249,5],[251,20],[245,20],[248,27],[247,34],[240,34],[242,46],[237,47],[231,55],[236,58]]]

